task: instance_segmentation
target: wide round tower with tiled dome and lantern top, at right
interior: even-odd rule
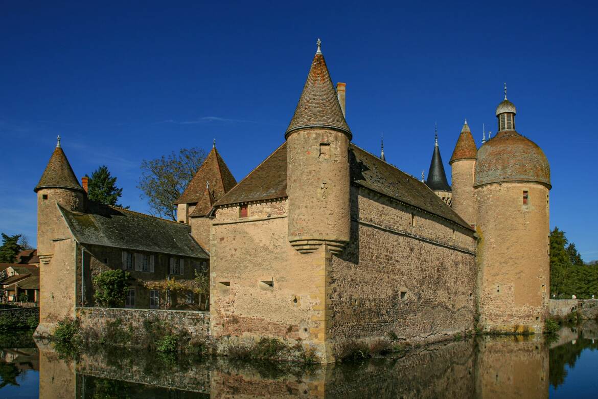
[[[515,105],[496,108],[499,131],[478,151],[478,301],[484,330],[536,332],[548,311],[550,165],[515,131]]]

